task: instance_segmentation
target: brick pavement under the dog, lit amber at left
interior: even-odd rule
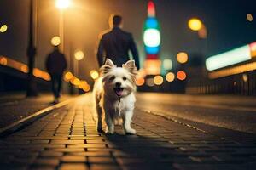
[[[137,135],[96,132],[90,95],[0,140],[0,169],[253,169],[241,144],[137,110]]]

